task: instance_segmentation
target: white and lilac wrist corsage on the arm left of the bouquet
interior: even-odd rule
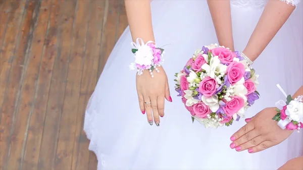
[[[154,41],[147,41],[144,44],[141,38],[137,38],[136,43],[132,42],[131,45],[131,51],[135,54],[135,62],[130,64],[130,70],[137,69],[138,75],[142,75],[143,70],[149,70],[151,77],[154,77],[154,70],[159,73],[157,67],[160,67],[164,62],[164,49],[156,47]]]

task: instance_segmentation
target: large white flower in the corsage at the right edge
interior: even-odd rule
[[[291,100],[285,110],[285,115],[296,122],[302,122],[303,119],[303,103],[297,100]]]

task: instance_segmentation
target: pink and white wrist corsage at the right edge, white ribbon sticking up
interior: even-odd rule
[[[286,95],[279,84],[277,84],[277,86],[285,95],[286,101],[279,100],[276,102],[276,110],[278,113],[273,120],[277,121],[278,126],[282,129],[296,129],[299,132],[299,130],[303,128],[303,96],[297,96],[293,99],[291,95]]]

